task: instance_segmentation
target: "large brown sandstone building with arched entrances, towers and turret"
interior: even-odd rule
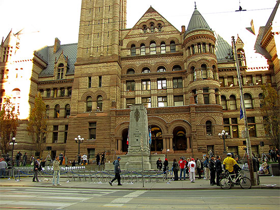
[[[126,2],[82,0],[78,43],[61,45],[56,38],[53,46],[35,51],[24,61],[32,67],[25,75],[28,85],[21,87],[29,97],[25,108],[32,107],[40,92],[48,115],[45,147],[51,146],[51,156],[63,152],[76,158],[78,135],[85,139],[80,153],[90,159],[101,152],[106,152],[107,160],[126,154],[129,108],[139,103],[148,110],[152,154],[168,153],[170,159],[202,157],[211,150],[221,155],[223,141],[218,133],[225,130],[227,151],[243,156],[244,119],[239,119],[232,45],[212,31],[197,8],[181,31],[152,7],[126,28]],[[269,27],[260,28],[256,42],[262,42],[259,53],[267,58],[264,66],[247,66],[244,44],[240,37],[236,40],[252,151],[257,154],[262,153],[261,141],[265,151],[269,146],[260,114],[261,85],[271,83],[279,90],[280,82],[277,54],[269,54],[274,39],[263,35],[274,33]],[[9,82],[18,71],[15,65],[22,63],[10,54],[18,43],[7,41],[12,37],[17,36],[11,33],[1,45],[1,100],[17,88],[22,96],[18,84]],[[7,71],[7,65],[14,66]],[[22,142],[18,147],[31,153],[26,118],[21,117],[17,140]]]

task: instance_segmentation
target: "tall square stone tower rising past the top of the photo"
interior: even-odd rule
[[[111,136],[115,132],[114,110],[121,107],[120,44],[125,27],[126,0],[82,0],[68,156],[77,154],[71,149],[77,147],[73,140],[77,135],[85,138],[81,154],[115,148]]]

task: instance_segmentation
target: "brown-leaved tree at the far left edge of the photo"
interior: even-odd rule
[[[7,98],[0,112],[0,142],[2,154],[7,154],[9,152],[10,140],[16,136],[18,114],[18,112],[15,112],[15,107],[11,103],[10,98]]]

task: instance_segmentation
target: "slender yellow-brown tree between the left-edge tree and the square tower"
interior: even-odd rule
[[[47,129],[46,104],[43,102],[41,94],[35,98],[34,108],[30,112],[27,131],[32,137],[36,152],[41,153],[44,135]]]

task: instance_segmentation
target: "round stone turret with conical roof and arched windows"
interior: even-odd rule
[[[215,41],[214,33],[195,6],[183,42],[189,104],[219,104]]]

